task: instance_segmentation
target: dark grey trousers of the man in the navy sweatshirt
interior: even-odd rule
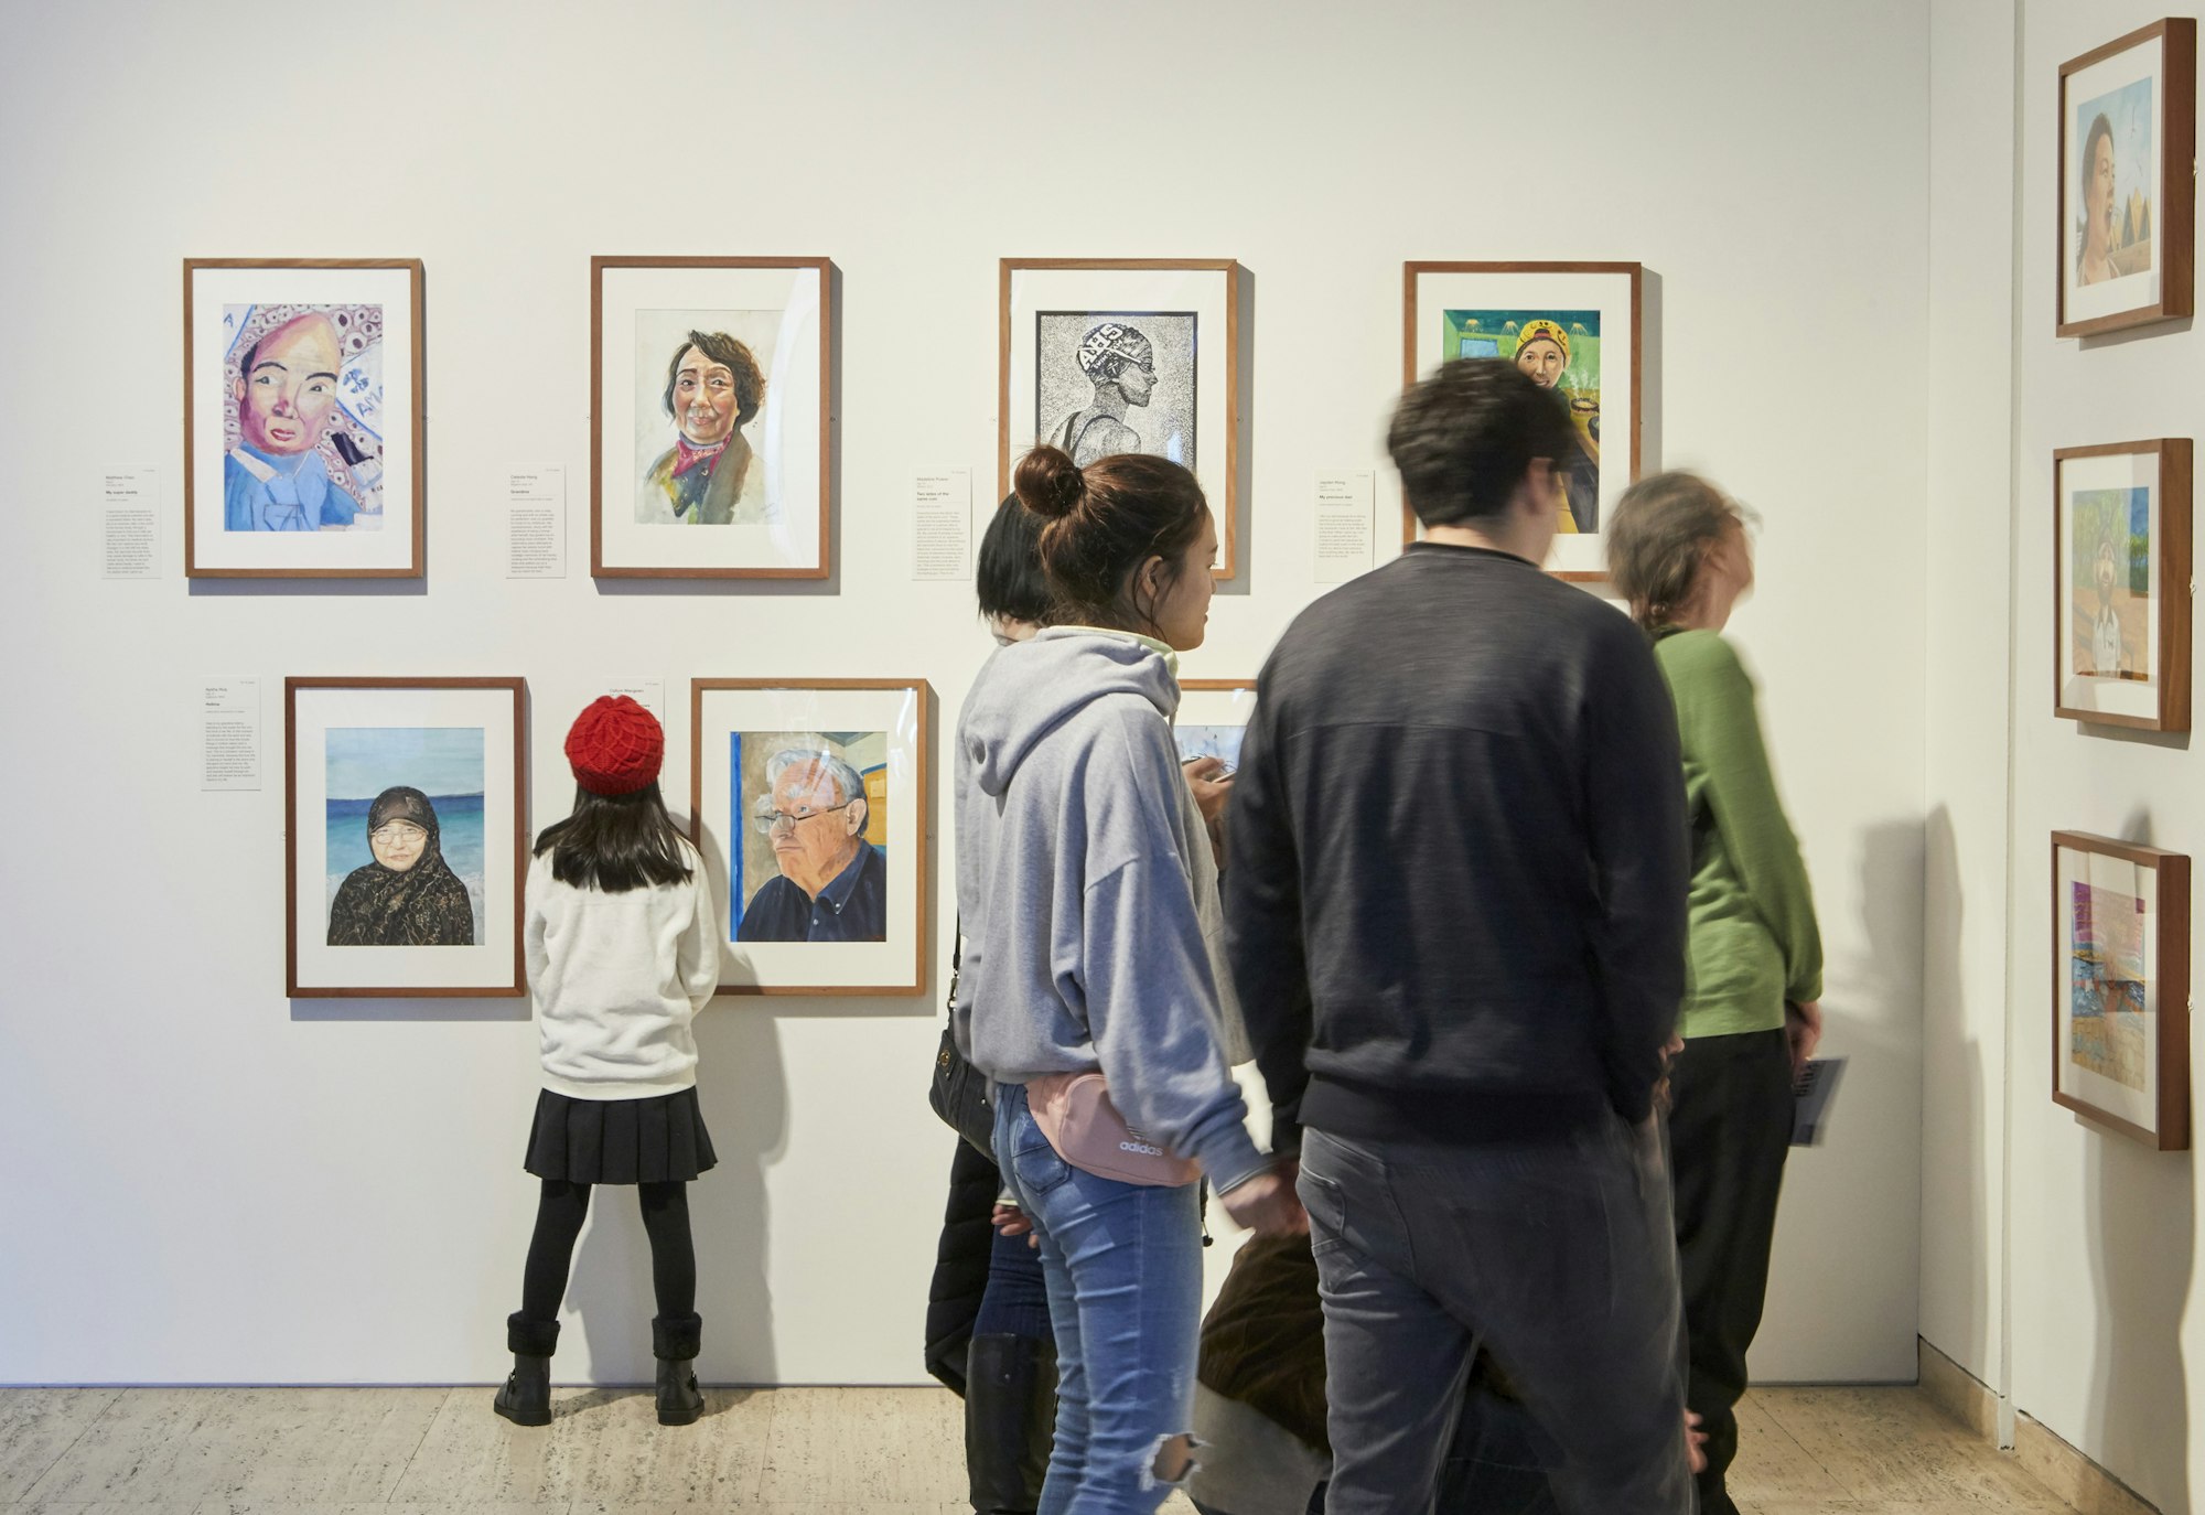
[[[1484,1343],[1559,1447],[1574,1515],[1691,1515],[1682,1303],[1660,1136],[1548,1145],[1305,1131],[1325,1299],[1327,1515],[1427,1515]]]

